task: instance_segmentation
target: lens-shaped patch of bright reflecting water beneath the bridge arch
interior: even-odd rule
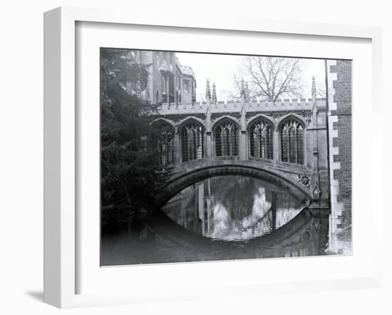
[[[240,241],[279,229],[301,209],[287,192],[261,180],[221,176],[185,188],[167,202],[163,212],[197,234]]]

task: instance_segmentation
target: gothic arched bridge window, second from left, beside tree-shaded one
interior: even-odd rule
[[[190,121],[181,128],[182,162],[204,158],[204,128]]]

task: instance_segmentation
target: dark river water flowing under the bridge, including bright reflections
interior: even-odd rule
[[[319,211],[319,210],[318,210]],[[101,265],[315,256],[328,217],[251,177],[221,176],[185,188],[152,214],[103,227]]]

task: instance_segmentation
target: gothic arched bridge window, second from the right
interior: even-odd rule
[[[267,120],[256,120],[249,128],[250,156],[272,160],[274,158],[273,127]]]

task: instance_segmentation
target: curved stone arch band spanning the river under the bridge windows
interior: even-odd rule
[[[189,187],[195,182],[206,180],[210,177],[225,175],[242,175],[257,178],[264,182],[274,185],[281,190],[289,192],[298,200],[301,205],[307,207],[313,201],[311,193],[306,190],[299,182],[291,180],[274,170],[269,170],[262,166],[254,167],[252,165],[242,165],[239,163],[225,165],[210,165],[194,167],[193,170],[181,172],[179,175],[173,176],[161,187],[155,198],[155,205],[158,209],[163,207],[178,192]]]

